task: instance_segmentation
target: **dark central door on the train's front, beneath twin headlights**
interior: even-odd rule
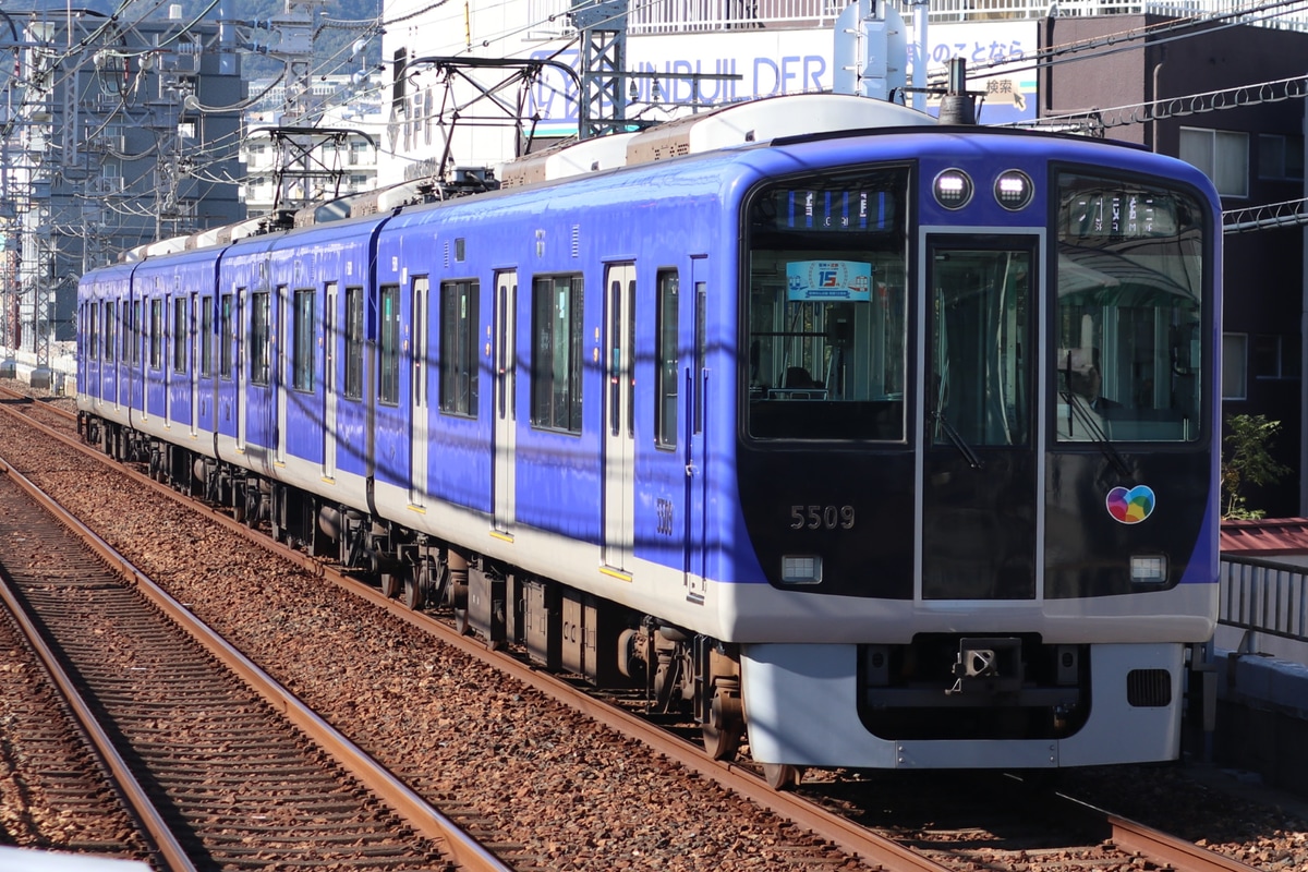
[[[926,234],[923,600],[1036,596],[1036,237]]]

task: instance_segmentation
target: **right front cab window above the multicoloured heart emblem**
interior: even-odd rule
[[[1203,212],[1190,193],[1058,175],[1058,442],[1201,438]]]

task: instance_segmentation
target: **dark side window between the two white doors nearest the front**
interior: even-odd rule
[[[585,328],[581,273],[532,276],[531,426],[581,434]],[[564,356],[557,353],[561,340],[566,341]]]

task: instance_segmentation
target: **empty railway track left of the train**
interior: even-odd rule
[[[305,720],[289,694],[148,579],[128,583],[122,557],[5,472],[5,601],[94,737],[157,867],[433,869],[458,858],[505,868],[416,797],[408,820],[381,807],[378,795],[396,792],[388,773],[351,757],[326,724],[288,720]]]

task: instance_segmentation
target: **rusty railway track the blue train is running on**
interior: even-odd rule
[[[150,482],[150,486],[157,485]],[[171,492],[167,493],[171,495]],[[226,520],[222,515],[215,515],[215,518],[220,523],[225,523],[232,532],[242,536],[246,535],[246,529],[241,524]],[[611,726],[613,729],[621,731],[624,735],[638,737],[642,743],[653,746],[659,754],[676,760],[680,765],[697,773],[698,778],[712,779],[727,791],[748,797],[760,807],[769,809],[772,813],[798,824],[807,831],[812,833],[816,841],[814,841],[814,838],[797,839],[800,845],[795,848],[787,848],[787,851],[790,851],[787,854],[790,859],[798,859],[794,851],[812,850],[814,863],[821,863],[823,865],[831,867],[833,863],[840,863],[840,860],[837,856],[833,856],[829,847],[824,847],[824,843],[829,843],[837,846],[846,856],[858,856],[867,863],[880,865],[887,869],[1041,868],[1039,863],[1033,860],[1033,854],[1039,856],[1044,848],[1037,848],[1035,851],[1029,846],[1003,848],[1002,839],[994,837],[985,839],[986,847],[984,852],[977,852],[974,850],[977,842],[974,833],[971,835],[963,834],[955,841],[954,846],[950,846],[939,833],[934,834],[930,839],[921,839],[913,833],[906,833],[905,828],[901,825],[882,826],[880,831],[872,831],[857,822],[857,818],[867,817],[866,808],[862,813],[857,809],[852,813],[849,808],[824,808],[823,805],[806,800],[802,796],[774,794],[766,788],[761,779],[759,779],[747,767],[709,761],[696,748],[667,733],[657,726],[630,714],[616,711],[595,701],[593,697],[582,694],[579,689],[573,688],[566,682],[559,682],[549,679],[528,665],[511,659],[505,660],[493,652],[488,652],[485,647],[476,641],[458,635],[456,631],[439,624],[438,621],[434,621],[432,616],[411,612],[399,603],[381,596],[375,588],[362,586],[348,577],[336,575],[331,567],[323,566],[319,561],[307,558],[298,552],[288,552],[266,537],[259,537],[256,541],[262,548],[276,550],[288,560],[298,562],[309,573],[322,575],[336,582],[337,584],[343,584],[358,596],[368,599],[370,603],[388,609],[395,617],[405,621],[422,634],[434,634],[441,639],[442,645],[460,651],[467,658],[494,662],[497,664],[497,669],[505,671],[522,684],[540,690],[543,694],[566,699],[568,705],[576,707],[587,716],[595,718],[596,720]],[[430,780],[429,777],[421,771],[405,773],[403,763],[396,766],[396,771],[405,779],[412,779],[415,783]],[[823,788],[818,787],[816,790],[821,791]],[[821,796],[819,796],[819,801],[821,801]],[[862,801],[866,803],[867,799],[865,797]],[[838,803],[831,801],[825,801],[824,804],[828,807],[840,805]],[[1095,868],[1131,868],[1130,864],[1144,862],[1141,859],[1142,856],[1159,858],[1154,862],[1160,864],[1167,863],[1167,868],[1179,871],[1253,868],[1228,862],[1216,855],[1207,855],[1203,851],[1197,851],[1193,845],[1167,839],[1167,837],[1162,833],[1150,831],[1144,828],[1139,828],[1138,825],[1133,825],[1130,821],[1113,818],[1107,813],[1093,812],[1096,814],[1097,825],[1092,825],[1087,829],[1082,817],[1087,812],[1084,809],[1080,809],[1076,812],[1079,822],[1075,825],[1069,824],[1069,828],[1080,828],[1082,831],[1088,833],[1084,843],[1062,839],[1057,848],[1049,850],[1050,855],[1078,855],[1080,858],[1080,863],[1092,864]],[[1048,822],[1049,813],[1046,813],[1042,820]],[[1003,831],[1006,828],[1011,830],[1014,828],[1012,822],[1007,825],[1001,824],[993,829]],[[899,841],[888,838],[888,835],[897,835]],[[925,841],[930,841],[933,845],[920,845],[920,842]],[[1159,847],[1164,843],[1168,847]],[[1162,859],[1165,858],[1169,851],[1172,852],[1172,859]],[[1110,865],[1114,863],[1118,865]],[[579,865],[577,868],[600,867]],[[800,865],[798,868],[804,867]]]

